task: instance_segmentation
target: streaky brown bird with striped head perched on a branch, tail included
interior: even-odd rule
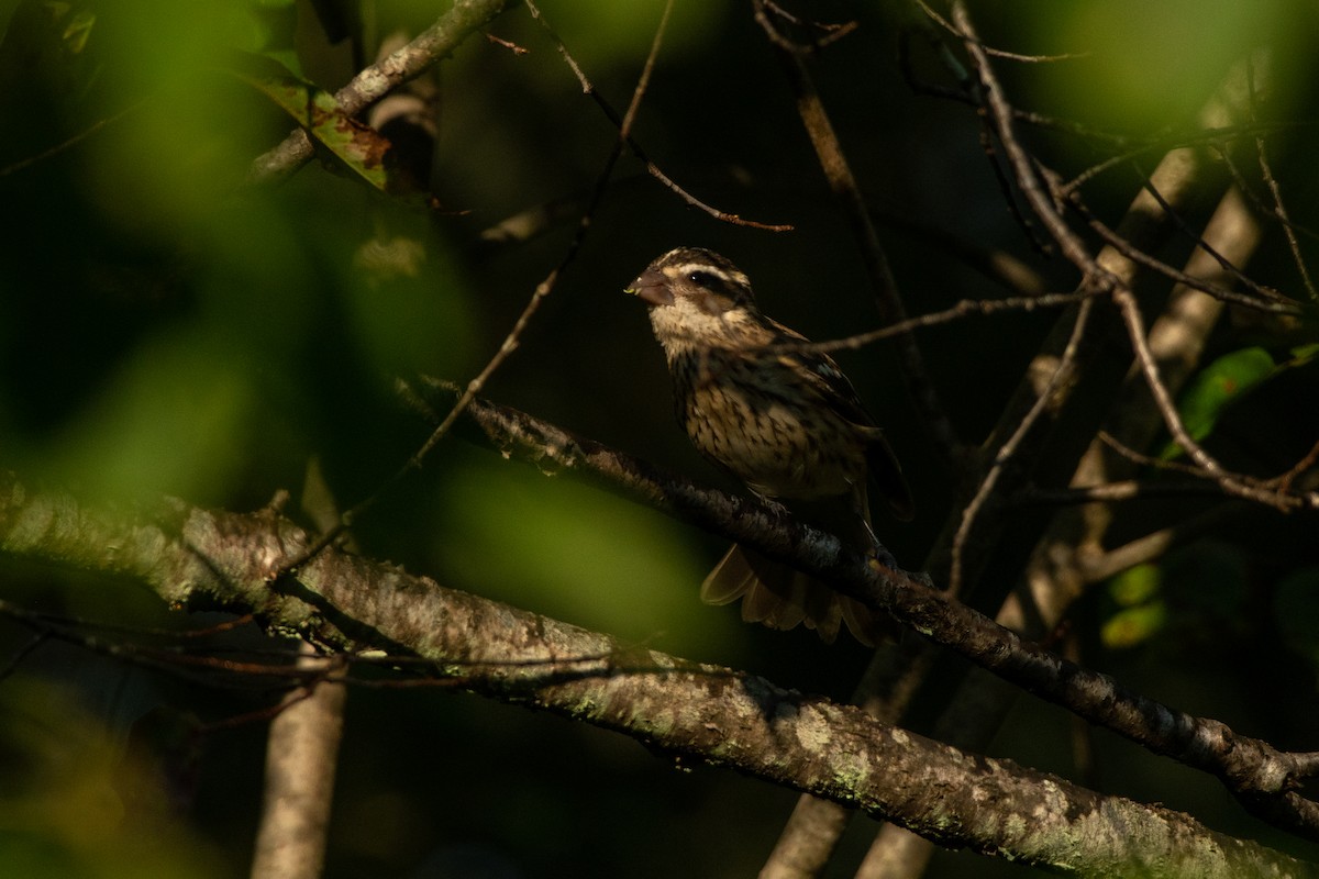
[[[649,307],[678,423],[702,455],[760,498],[791,502],[798,518],[861,551],[876,543],[867,482],[894,517],[911,518],[898,461],[852,383],[826,354],[782,349],[805,336],[760,312],[737,266],[711,250],[677,248],[646,266],[627,293]],[[773,629],[805,622],[826,642],[845,622],[873,644],[888,622],[741,546],[706,577],[700,597],[720,605],[741,598],[743,619]]]

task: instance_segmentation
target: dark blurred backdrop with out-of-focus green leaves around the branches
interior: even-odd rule
[[[437,14],[431,3],[373,7],[379,33],[415,32]],[[541,7],[621,111],[662,4]],[[1274,49],[1270,113],[1311,119],[1312,53],[1301,49],[1312,45],[1315,20],[1302,8],[1018,0],[972,12],[992,43],[1084,53],[1004,65],[1020,105],[1150,136],[1190,127],[1225,69],[1260,43]],[[930,228],[1002,248],[1030,261],[1049,289],[1070,289],[1067,266],[1034,253],[1005,208],[973,115],[904,82],[896,49],[909,11],[820,3],[810,14],[859,21],[813,70],[885,217],[909,308],[1002,295],[950,258]],[[252,87],[253,54],[330,91],[353,70],[309,7],[9,0],[0,21],[0,203],[9,216],[0,236],[0,465],[117,509],[161,494],[257,509],[281,489],[297,494],[311,456],[342,503],[369,494],[429,431],[397,405],[394,377],[466,381],[480,369],[565,252],[616,137],[554,42],[514,7],[489,32],[525,54],[475,37],[442,65],[438,210],[372,191],[332,161],[251,186],[251,161],[291,128]],[[915,69],[939,75],[919,51]],[[636,137],[707,203],[794,231],[718,223],[625,158],[578,260],[487,393],[727,485],[674,426],[660,352],[623,287],[670,246],[711,246],[748,270],[766,311],[826,339],[876,324],[864,270],[747,4],[675,4]],[[1100,158],[1086,138],[1042,137],[1074,170]],[[1294,219],[1308,227],[1312,140],[1312,127],[1287,127],[1275,156]],[[1137,186],[1129,170],[1115,171],[1087,198],[1116,217]],[[563,200],[567,219],[526,242],[481,239],[509,216]],[[1303,246],[1312,257],[1311,237]],[[1186,252],[1175,242],[1163,256],[1175,262]],[[1299,286],[1278,235],[1252,273]],[[1014,314],[922,332],[963,436],[992,426],[1050,322]],[[1262,463],[1253,464],[1260,472],[1303,455],[1319,435],[1312,344],[1304,328],[1239,324],[1215,336],[1188,411],[1203,414],[1199,427],[1216,449]],[[914,427],[892,354],[871,347],[840,360],[914,484],[917,522],[880,531],[915,567],[948,513],[950,478]],[[1138,535],[1178,509],[1130,511],[1126,530]],[[856,644],[753,629],[728,609],[700,606],[695,588],[719,540],[456,439],[355,534],[367,555],[441,582],[803,691],[845,697],[867,662]],[[997,572],[1005,584],[1021,551],[1012,540],[1009,531]],[[1312,517],[1242,514],[1087,600],[1075,619],[1080,656],[1150,696],[1311,750],[1312,547]],[[0,596],[133,633],[222,619],[170,614],[133,584],[13,561],[0,564]],[[30,638],[0,623],[0,656],[12,658],[0,681],[0,872],[243,875],[264,722],[227,721],[277,695],[259,680],[199,680],[69,644],[24,652]],[[232,646],[270,642],[248,627]],[[933,717],[962,671],[942,663],[913,725]],[[751,875],[795,799],[674,766],[594,729],[361,675],[348,702],[330,876]],[[1306,853],[1248,821],[1211,780],[1087,737],[1029,698],[993,752]],[[1079,763],[1078,754],[1089,758]],[[855,863],[872,832],[859,821],[839,861]],[[933,868],[998,874],[1021,868],[959,853],[939,853]]]

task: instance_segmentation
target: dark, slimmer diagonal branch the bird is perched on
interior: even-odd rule
[[[923,579],[874,564],[822,531],[757,501],[703,489],[690,480],[517,410],[476,401],[468,418],[487,441],[542,470],[572,469],[687,522],[819,576],[868,606],[885,609],[922,635],[977,666],[1113,730],[1155,754],[1221,779],[1256,814],[1319,838],[1319,807],[1294,793],[1293,755],[1227,725],[1198,718],[1132,693],[1105,675],[1022,640]]]

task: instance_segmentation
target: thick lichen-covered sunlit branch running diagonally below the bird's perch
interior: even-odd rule
[[[699,666],[326,550],[297,582],[265,575],[309,535],[269,513],[164,505],[128,518],[0,485],[0,551],[128,575],[177,606],[256,613],[344,652],[385,650],[501,701],[616,730],[861,808],[947,846],[1075,875],[1315,876],[1188,816],[975,758],[743,672]]]

